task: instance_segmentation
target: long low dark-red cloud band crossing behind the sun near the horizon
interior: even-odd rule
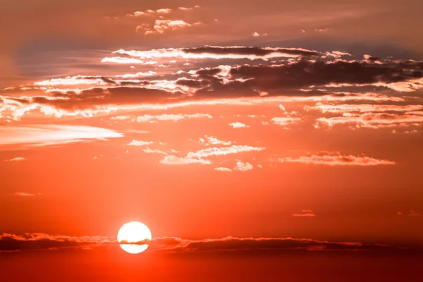
[[[153,238],[142,241],[148,243],[147,252],[166,252],[173,254],[189,254],[202,252],[255,252],[281,253],[284,252],[405,252],[410,247],[386,245],[380,243],[329,242],[307,238],[236,238],[226,237],[217,239],[189,240],[177,237]],[[96,247],[119,243],[106,236],[64,236],[48,235],[44,233],[25,233],[14,235],[3,233],[0,235],[0,252],[18,252],[24,250],[60,250],[61,248],[78,248],[80,250],[94,250]],[[419,247],[417,249],[419,250]]]

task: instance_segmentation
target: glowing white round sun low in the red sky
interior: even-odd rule
[[[152,240],[149,228],[137,221],[125,223],[118,232],[118,243],[130,254],[139,254],[147,250],[149,240]]]

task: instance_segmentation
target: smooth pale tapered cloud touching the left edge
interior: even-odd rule
[[[92,126],[0,125],[0,145],[27,144],[31,146],[45,146],[116,137],[123,137],[123,134],[114,130]]]

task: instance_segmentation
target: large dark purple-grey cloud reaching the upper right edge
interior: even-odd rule
[[[312,85],[395,83],[423,77],[422,63],[367,63],[363,61],[298,61],[285,66],[239,66],[233,78],[262,90],[298,88]]]

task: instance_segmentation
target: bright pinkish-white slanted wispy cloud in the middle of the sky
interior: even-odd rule
[[[230,147],[211,147],[201,149],[197,152],[190,152],[185,157],[176,157],[173,155],[165,156],[160,162],[161,164],[178,165],[178,164],[212,164],[207,159],[212,156],[225,156],[227,154],[238,154],[243,152],[259,152],[264,147],[252,147],[247,145],[232,145]]]

